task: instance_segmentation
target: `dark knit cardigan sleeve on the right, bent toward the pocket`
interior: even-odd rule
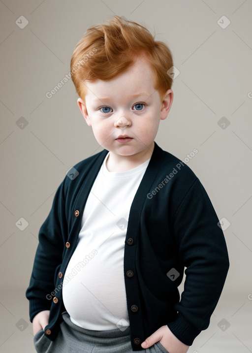
[[[172,229],[180,261],[186,267],[181,300],[175,305],[178,318],[168,323],[184,344],[209,326],[226,279],[227,247],[214,207],[196,179],[179,205]]]

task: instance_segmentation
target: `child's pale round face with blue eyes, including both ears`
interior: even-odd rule
[[[109,81],[86,81],[85,102],[78,105],[97,142],[121,156],[153,151],[160,119],[165,119],[173,100],[168,90],[160,101],[153,74],[145,58],[137,58],[126,72]]]

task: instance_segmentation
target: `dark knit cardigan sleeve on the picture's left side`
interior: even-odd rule
[[[54,290],[54,274],[62,261],[63,234],[67,229],[64,211],[64,182],[59,186],[51,211],[38,234],[38,246],[26,297],[30,301],[30,320],[43,310],[50,310]]]

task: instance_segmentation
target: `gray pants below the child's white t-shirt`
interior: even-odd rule
[[[34,336],[34,346],[38,353],[132,353],[130,328],[125,331],[119,328],[107,331],[93,331],[75,325],[65,311],[56,340],[53,342],[45,335],[43,329]],[[157,342],[146,353],[168,353]]]

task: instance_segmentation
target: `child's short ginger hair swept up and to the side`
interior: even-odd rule
[[[155,41],[148,29],[133,21],[113,16],[104,24],[90,27],[77,43],[70,62],[70,73],[76,92],[85,99],[85,81],[110,80],[125,72],[135,58],[144,54],[154,78],[154,88],[160,98],[172,86],[167,74],[173,66],[168,46]]]

